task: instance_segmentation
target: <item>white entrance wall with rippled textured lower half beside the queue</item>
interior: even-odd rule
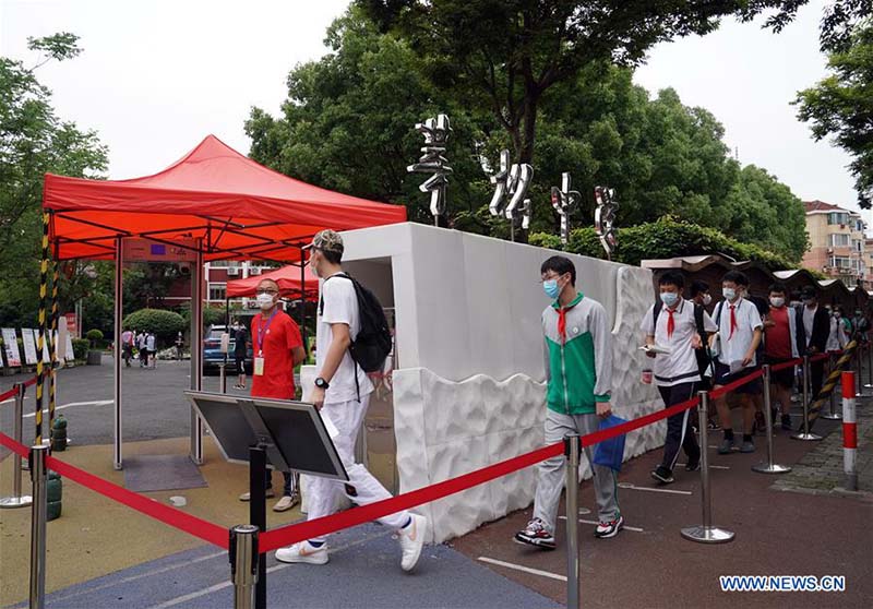
[[[540,314],[548,299],[538,279],[542,261],[558,252],[412,224],[350,231],[344,239],[347,261],[391,260],[400,490],[541,446]],[[654,387],[639,382],[645,357],[637,349],[638,326],[651,302],[650,271],[571,258],[577,287],[603,303],[613,324],[614,411],[631,419],[661,408]],[[312,377],[303,372],[304,390]],[[660,446],[663,429],[661,422],[629,434],[625,458]],[[444,541],[529,505],[535,474],[528,468],[416,511],[431,518],[432,540]]]

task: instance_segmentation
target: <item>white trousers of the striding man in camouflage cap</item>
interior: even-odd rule
[[[355,441],[363,425],[370,395],[362,395],[360,403],[357,399],[338,404],[325,404],[322,414],[326,415],[336,426],[339,435],[334,439],[336,452],[343,461],[349,481],[333,480],[331,478],[311,477],[307,486],[307,520],[327,516],[336,511],[338,494],[345,494],[358,505],[375,503],[391,497],[391,493],[368,471],[360,463],[355,463]],[[406,511],[390,514],[379,522],[391,528],[400,528],[409,520]],[[315,538],[312,541],[324,541]]]

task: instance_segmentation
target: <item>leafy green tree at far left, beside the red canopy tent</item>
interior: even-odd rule
[[[97,135],[58,118],[50,92],[36,77],[36,69],[47,61],[77,56],[76,41],[68,33],[29,38],[28,47],[44,56],[33,68],[0,57],[0,320],[4,324],[32,325],[35,320],[44,174],[93,178],[106,169],[107,151]]]

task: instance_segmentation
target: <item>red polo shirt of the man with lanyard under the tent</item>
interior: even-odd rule
[[[292,351],[303,346],[300,327],[285,311],[277,310],[272,321],[255,315],[251,331],[254,357],[264,358],[264,373],[252,375],[252,396],[294,399]]]

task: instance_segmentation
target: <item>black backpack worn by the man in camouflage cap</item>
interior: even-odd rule
[[[327,277],[325,282],[333,277],[345,277],[355,286],[355,296],[358,298],[358,312],[361,327],[358,336],[351,342],[348,348],[351,359],[361,367],[364,372],[381,372],[385,366],[385,359],[391,354],[391,331],[385,311],[375,295],[359,284],[347,273],[337,273]],[[319,302],[319,314],[324,313],[324,299]],[[357,380],[357,377],[356,377]]]

